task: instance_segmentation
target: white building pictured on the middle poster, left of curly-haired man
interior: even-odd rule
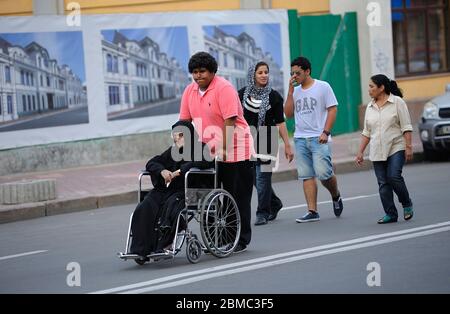
[[[180,98],[189,75],[148,36],[137,41],[115,31],[102,40],[107,112]]]

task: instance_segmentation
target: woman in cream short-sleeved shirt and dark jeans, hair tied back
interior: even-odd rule
[[[371,77],[364,130],[356,163],[364,161],[364,150],[370,142],[369,158],[378,181],[381,203],[385,216],[379,224],[397,222],[398,213],[394,204],[394,192],[403,206],[403,217],[413,217],[413,205],[402,176],[405,161],[412,159],[411,118],[397,83],[383,74]]]

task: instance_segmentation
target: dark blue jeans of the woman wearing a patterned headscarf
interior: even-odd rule
[[[256,164],[255,186],[258,192],[257,217],[269,218],[270,214],[276,214],[283,203],[272,188],[272,171],[261,171],[261,165]]]

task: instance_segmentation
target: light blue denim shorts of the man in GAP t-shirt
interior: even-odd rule
[[[295,138],[294,143],[299,180],[317,177],[324,181],[333,176],[329,143],[319,143],[318,137]]]

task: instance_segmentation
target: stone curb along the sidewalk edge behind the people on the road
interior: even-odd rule
[[[423,152],[414,152],[413,160],[408,164],[420,163],[424,160]],[[334,163],[335,173],[344,174],[372,169],[372,163],[366,161],[363,166],[356,167],[353,158],[341,159]],[[297,169],[275,172],[272,182],[297,180]],[[79,199],[62,199],[38,203],[2,206],[0,209],[0,224],[27,219],[73,213],[110,206],[135,203],[137,189],[114,194],[89,196]]]

